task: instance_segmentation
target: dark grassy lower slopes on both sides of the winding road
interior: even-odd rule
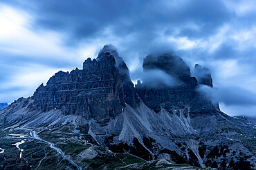
[[[6,132],[10,134],[28,134],[28,131],[23,129],[14,129]],[[57,151],[51,149],[48,144],[31,138],[27,138],[24,144],[19,145],[21,149],[24,149],[22,158],[19,158],[20,151],[12,144],[24,140],[24,138],[7,138],[7,136],[8,134],[4,131],[0,131],[0,147],[5,149],[0,154],[1,169],[77,169],[70,162],[64,160]],[[62,149],[65,155],[73,160],[79,153],[91,147],[91,145],[84,145],[85,140],[93,141],[89,135],[73,135],[60,131],[42,131],[39,136],[44,140],[53,142],[55,147]],[[80,167],[88,166],[87,169],[93,170],[156,169],[157,161],[146,162],[128,153],[111,153],[106,147],[100,146],[97,146],[96,151],[98,156],[91,160],[84,158],[79,164]],[[163,163],[160,167],[183,168],[190,167],[190,165]]]

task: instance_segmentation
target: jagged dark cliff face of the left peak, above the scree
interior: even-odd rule
[[[88,120],[116,117],[125,107],[121,75],[109,52],[99,54],[97,60],[86,59],[83,70],[58,72],[46,86],[38,87],[33,99],[32,109],[61,109]]]

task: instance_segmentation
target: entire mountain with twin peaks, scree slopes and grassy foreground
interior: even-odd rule
[[[57,72],[0,110],[0,166],[256,169],[255,124],[224,114],[202,85],[213,88],[210,70],[195,65],[192,76],[172,54],[146,56],[134,85],[116,47],[105,45],[82,70]]]

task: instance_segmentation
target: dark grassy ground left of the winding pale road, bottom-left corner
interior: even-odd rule
[[[9,131],[7,131],[9,132]],[[26,134],[27,131],[15,129],[11,134]],[[0,153],[1,169],[76,169],[73,165],[64,160],[57,151],[51,149],[48,144],[27,138],[24,144],[19,145],[22,151],[22,158],[19,158],[20,151],[14,143],[24,140],[24,138],[7,138],[7,134],[0,130],[0,147],[4,149]],[[41,162],[41,164],[39,164]]]

